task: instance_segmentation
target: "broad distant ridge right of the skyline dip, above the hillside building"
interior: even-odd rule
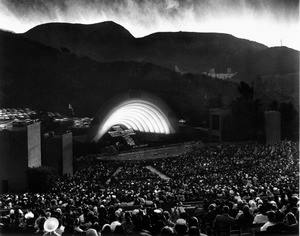
[[[218,33],[156,33],[138,39],[141,60],[174,69],[175,65],[182,71],[192,73],[208,72],[215,68],[216,72],[225,72],[228,67],[233,71],[245,71],[241,59],[267,47],[238,39],[229,34]]]

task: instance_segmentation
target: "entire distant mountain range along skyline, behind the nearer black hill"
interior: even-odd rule
[[[79,56],[99,62],[150,62],[170,70],[190,73],[217,73],[232,68],[233,81],[252,83],[262,77],[258,97],[266,94],[278,102],[299,99],[299,51],[265,45],[228,34],[155,33],[134,38],[114,22],[93,25],[51,23],[37,26],[25,34],[33,40],[56,48],[65,47]],[[277,99],[276,99],[277,98]],[[297,106],[298,107],[298,106]]]

